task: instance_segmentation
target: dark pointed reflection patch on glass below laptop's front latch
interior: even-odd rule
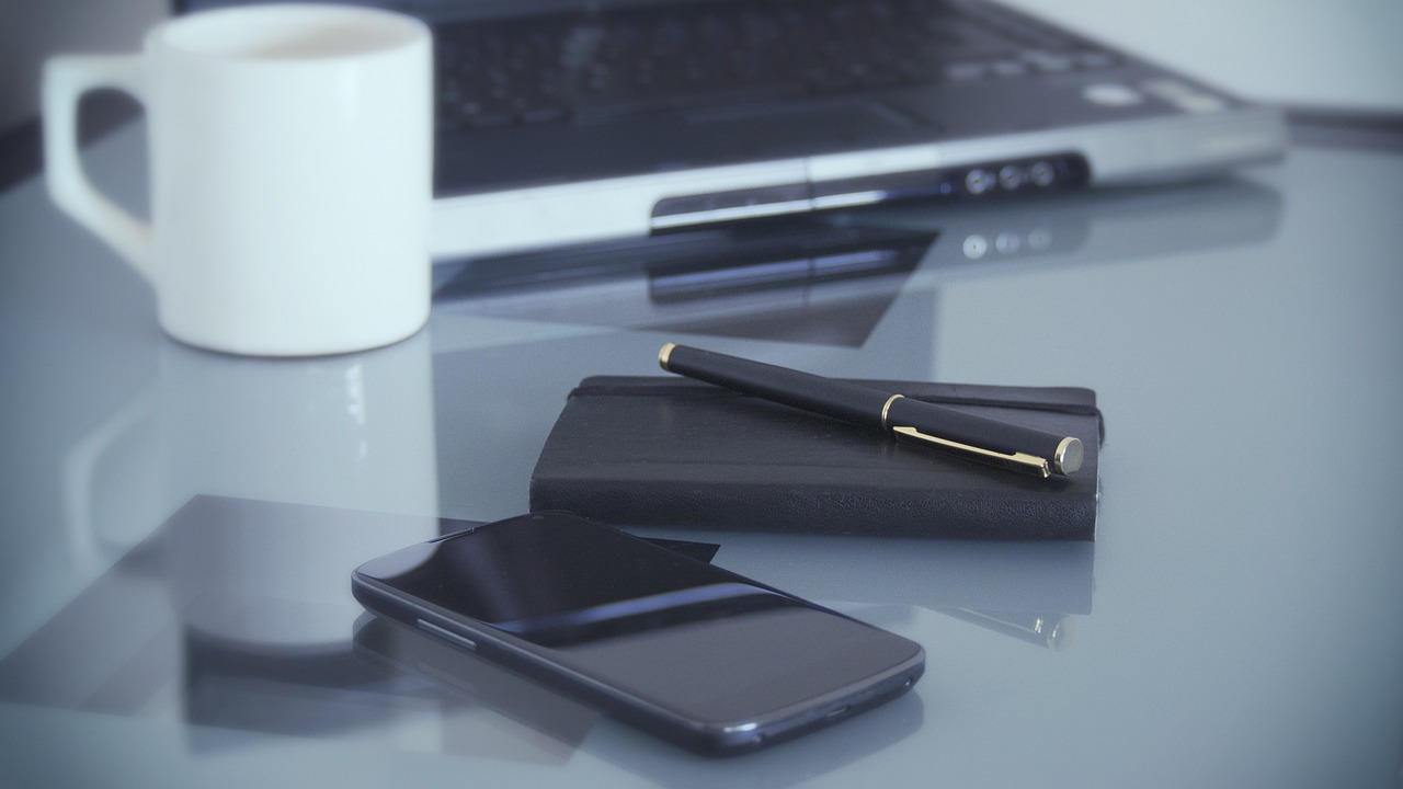
[[[828,216],[439,267],[467,314],[861,347],[936,233]],[[443,270],[449,270],[446,274]]]

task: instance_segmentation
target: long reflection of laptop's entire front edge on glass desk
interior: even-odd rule
[[[452,314],[859,348],[898,295],[939,288],[941,277],[1261,243],[1280,211],[1274,191],[1237,180],[995,208],[911,201],[441,264],[435,305]]]

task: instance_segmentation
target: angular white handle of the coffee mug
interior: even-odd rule
[[[154,281],[152,226],[98,192],[79,160],[77,108],[83,94],[112,87],[145,102],[143,83],[139,55],[60,55],[46,60],[41,90],[43,159],[49,198]]]

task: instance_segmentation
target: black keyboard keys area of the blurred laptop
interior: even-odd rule
[[[435,28],[441,128],[602,121],[1101,69],[1118,58],[958,0],[751,0]]]

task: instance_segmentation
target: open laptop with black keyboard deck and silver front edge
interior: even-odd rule
[[[989,0],[355,4],[434,29],[438,261],[1183,180],[1287,142],[1274,108]]]

